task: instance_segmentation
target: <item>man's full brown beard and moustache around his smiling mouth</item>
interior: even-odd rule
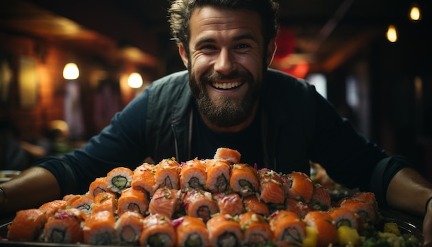
[[[197,99],[199,112],[202,117],[205,117],[212,124],[219,127],[230,127],[242,124],[246,119],[251,116],[255,102],[258,100],[259,91],[262,85],[262,77],[254,80],[250,72],[235,72],[232,75],[223,76],[214,72],[209,72],[202,75],[200,81],[197,81],[193,72],[189,69],[189,86],[192,95]],[[264,73],[262,74],[264,75]],[[243,99],[230,99],[228,96],[219,96],[215,103],[210,99],[206,90],[207,81],[215,81],[222,79],[246,79],[249,83],[248,90]]]

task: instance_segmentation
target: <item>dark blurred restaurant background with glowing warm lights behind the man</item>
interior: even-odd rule
[[[81,146],[151,81],[183,70],[168,6],[1,1],[0,162],[13,153],[7,139],[30,160]],[[431,1],[281,0],[280,8],[271,67],[308,79],[357,130],[432,179]]]

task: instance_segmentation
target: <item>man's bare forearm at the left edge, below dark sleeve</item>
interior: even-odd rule
[[[41,204],[58,199],[60,188],[51,172],[41,167],[24,170],[10,181],[0,184],[0,212],[10,213],[24,208],[38,208]]]

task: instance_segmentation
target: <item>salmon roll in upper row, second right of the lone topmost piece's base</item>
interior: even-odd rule
[[[283,204],[285,192],[279,173],[267,168],[262,168],[257,173],[259,176],[259,199],[266,203]]]

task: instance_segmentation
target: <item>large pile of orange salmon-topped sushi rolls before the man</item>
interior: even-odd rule
[[[302,172],[239,163],[218,148],[213,159],[119,167],[85,195],[20,210],[8,239],[128,246],[360,246],[379,217],[371,192],[331,201]]]

